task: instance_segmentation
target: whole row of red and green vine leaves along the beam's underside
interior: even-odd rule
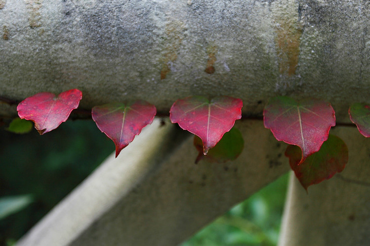
[[[42,135],[67,120],[72,110],[78,108],[82,92],[77,89],[55,96],[42,92],[30,96],[17,106],[21,119],[31,120]],[[172,123],[195,134],[194,146],[200,160],[225,162],[236,159],[243,151],[242,134],[233,128],[235,120],[242,118],[243,102],[229,96],[206,98],[190,96],[178,99],[170,110]],[[354,104],[348,110],[350,119],[365,137],[370,136],[370,106]],[[151,124],[157,114],[154,105],[143,100],[110,103],[96,106],[91,116],[97,127],[112,139],[116,157]],[[343,171],[348,162],[348,149],[338,136],[329,134],[336,125],[335,111],[319,99],[296,101],[278,96],[269,100],[264,108],[264,125],[274,137],[289,146],[285,155],[291,169],[307,190],[310,185],[331,178]],[[8,128],[23,133],[29,121],[14,119]],[[26,126],[24,129],[22,125]]]

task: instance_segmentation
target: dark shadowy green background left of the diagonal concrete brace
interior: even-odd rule
[[[0,219],[0,245],[24,235],[114,150],[93,120],[69,120],[42,136],[0,128],[0,198],[31,197],[24,209]]]

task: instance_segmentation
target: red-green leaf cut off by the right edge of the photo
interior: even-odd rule
[[[349,110],[349,118],[365,137],[370,137],[370,106],[366,104],[353,104]]]

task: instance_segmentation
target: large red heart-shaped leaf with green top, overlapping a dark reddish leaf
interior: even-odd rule
[[[320,150],[335,126],[335,112],[329,103],[318,99],[300,103],[286,96],[272,98],[264,109],[264,124],[276,139],[297,145],[301,163]]]

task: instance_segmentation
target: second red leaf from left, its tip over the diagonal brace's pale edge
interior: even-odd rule
[[[156,108],[143,100],[134,103],[110,103],[94,107],[91,111],[100,131],[104,132],[116,145],[116,157],[135,135],[153,122]]]

